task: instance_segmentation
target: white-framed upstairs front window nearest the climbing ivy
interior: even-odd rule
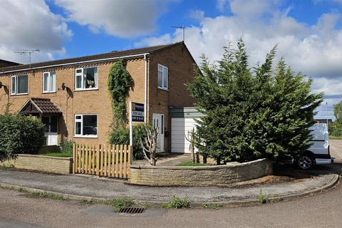
[[[98,68],[77,68],[75,76],[76,90],[92,90],[98,88]]]

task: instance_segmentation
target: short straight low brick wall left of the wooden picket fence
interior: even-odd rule
[[[69,174],[72,172],[73,158],[50,157],[44,155],[18,155],[16,160],[4,162],[4,165],[6,164],[14,165],[14,167],[18,169]]]

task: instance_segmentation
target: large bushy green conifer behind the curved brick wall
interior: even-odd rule
[[[296,157],[308,149],[309,128],[323,93],[312,93],[312,79],[294,74],[275,48],[263,64],[249,68],[244,42],[225,48],[213,65],[202,56],[187,88],[204,114],[197,121],[195,145],[202,155],[223,162]]]

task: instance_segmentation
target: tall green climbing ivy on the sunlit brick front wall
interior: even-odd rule
[[[124,127],[128,122],[126,98],[131,83],[132,77],[125,68],[124,60],[120,58],[110,68],[108,75],[108,91],[112,99],[114,127]]]

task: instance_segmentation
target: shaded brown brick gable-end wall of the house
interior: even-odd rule
[[[168,90],[157,88],[157,66],[158,63],[168,68]],[[193,106],[195,100],[190,96],[185,83],[192,82],[194,78],[194,62],[182,44],[167,48],[153,54],[149,60],[149,121],[152,121],[153,113],[165,115],[164,139],[165,151],[170,151],[171,120],[169,115],[170,106]],[[151,122],[152,123],[152,122]]]

